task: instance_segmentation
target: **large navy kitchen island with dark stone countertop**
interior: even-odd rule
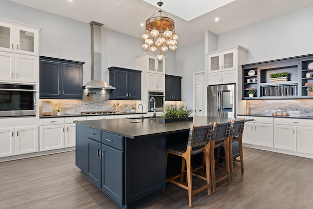
[[[166,145],[187,141],[191,124],[231,118],[194,116],[159,123],[157,118],[105,119],[76,123],[76,165],[121,208],[134,208],[162,194]]]

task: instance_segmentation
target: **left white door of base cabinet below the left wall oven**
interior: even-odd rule
[[[0,158],[15,155],[14,128],[0,129]]]

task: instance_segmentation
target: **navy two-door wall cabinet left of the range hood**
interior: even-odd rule
[[[82,99],[84,62],[40,57],[40,98]]]

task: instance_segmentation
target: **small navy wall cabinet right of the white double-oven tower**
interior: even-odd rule
[[[181,77],[165,75],[165,100],[181,101]]]

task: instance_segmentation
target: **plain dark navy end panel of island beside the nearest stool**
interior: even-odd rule
[[[161,194],[165,188],[165,155],[165,136],[125,140],[125,205]]]

